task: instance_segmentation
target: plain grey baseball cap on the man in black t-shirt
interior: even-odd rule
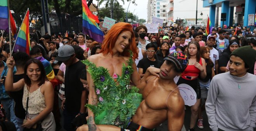
[[[62,45],[58,49],[58,56],[55,58],[55,60],[66,61],[73,54],[75,54],[75,52],[74,52],[74,48],[71,45]]]

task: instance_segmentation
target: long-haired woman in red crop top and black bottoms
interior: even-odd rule
[[[198,77],[200,76],[202,79],[206,77],[206,63],[205,60],[200,57],[200,45],[198,42],[190,42],[187,51],[189,64],[185,71],[183,71],[181,74],[177,85],[183,83],[188,84],[195,90],[197,94],[197,101],[193,106],[191,106],[189,126],[189,131],[194,131],[195,122],[197,120],[197,111],[201,100],[201,89],[199,88]]]

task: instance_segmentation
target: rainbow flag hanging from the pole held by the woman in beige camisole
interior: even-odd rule
[[[14,43],[13,50],[14,52],[26,52],[29,55],[30,40],[29,40],[29,10],[24,17],[24,20],[21,24],[21,28],[19,29],[19,33],[17,39]]]

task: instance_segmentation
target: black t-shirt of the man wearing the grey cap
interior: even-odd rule
[[[66,67],[65,72],[65,109],[70,112],[80,112],[81,95],[84,90],[80,81],[80,73],[85,69],[85,64],[80,60],[71,66]]]

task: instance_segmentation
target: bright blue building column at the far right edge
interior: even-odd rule
[[[246,0],[244,7],[244,27],[251,27],[251,31],[253,31],[254,26],[248,26],[248,14],[255,15],[256,8],[256,0]]]

